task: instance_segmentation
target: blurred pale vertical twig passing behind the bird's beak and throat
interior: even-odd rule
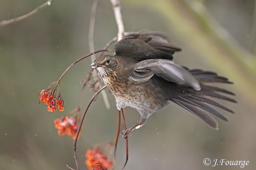
[[[98,4],[98,0],[94,0],[93,4],[92,4],[92,8],[91,8],[91,17],[90,17],[89,33],[88,33],[88,41],[89,41],[90,52],[94,51],[93,33],[94,33],[94,23],[95,23],[95,14],[96,14],[97,4]],[[93,62],[94,60],[95,60],[95,56],[92,55],[91,61]],[[93,72],[92,74],[93,74],[93,77],[94,77],[95,72]],[[99,77],[93,78],[94,81],[98,80],[98,79],[99,79]],[[100,83],[97,82],[96,86],[100,87]],[[106,91],[102,90],[101,94],[103,96],[103,101],[105,103],[106,108],[110,109],[110,104],[109,104],[109,100],[108,100],[108,96],[106,94]]]

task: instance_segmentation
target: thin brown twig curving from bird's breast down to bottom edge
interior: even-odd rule
[[[82,124],[83,124],[83,119],[84,119],[84,116],[89,108],[89,106],[91,105],[92,101],[94,100],[94,98],[104,89],[106,88],[107,86],[102,86],[91,98],[91,100],[89,101],[86,109],[84,110],[84,113],[83,113],[83,116],[81,118],[81,121],[80,121],[80,125],[79,125],[79,128],[77,130],[77,136],[76,136],[76,139],[75,139],[75,142],[74,142],[74,154],[75,154],[75,160],[76,160],[76,165],[77,165],[77,169],[79,170],[79,165],[78,165],[78,161],[77,161],[77,151],[76,151],[76,146],[77,146],[77,139],[78,139],[78,135],[80,133],[80,130],[81,130],[81,127],[82,127]]]

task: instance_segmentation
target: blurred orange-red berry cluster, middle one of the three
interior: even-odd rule
[[[78,123],[74,117],[65,116],[63,119],[54,120],[59,135],[70,135],[73,139],[77,136]]]

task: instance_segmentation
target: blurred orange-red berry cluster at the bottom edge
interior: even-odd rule
[[[101,165],[109,169],[113,165],[113,162],[107,160],[107,158],[98,148],[88,149],[85,156],[87,158],[85,163],[88,166],[88,169],[101,170],[103,168]],[[100,165],[95,166],[97,163],[100,163]]]

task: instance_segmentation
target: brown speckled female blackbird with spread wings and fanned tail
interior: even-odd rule
[[[171,101],[214,129],[218,129],[218,123],[203,110],[225,121],[228,118],[209,104],[234,113],[207,97],[236,102],[220,94],[234,95],[232,92],[204,84],[232,83],[214,72],[189,70],[175,64],[173,54],[181,49],[170,44],[164,35],[156,32],[130,33],[116,43],[114,50],[114,56],[100,56],[91,66],[96,68],[101,80],[115,96],[118,110],[130,106],[141,115],[139,124],[123,131],[123,138]]]

